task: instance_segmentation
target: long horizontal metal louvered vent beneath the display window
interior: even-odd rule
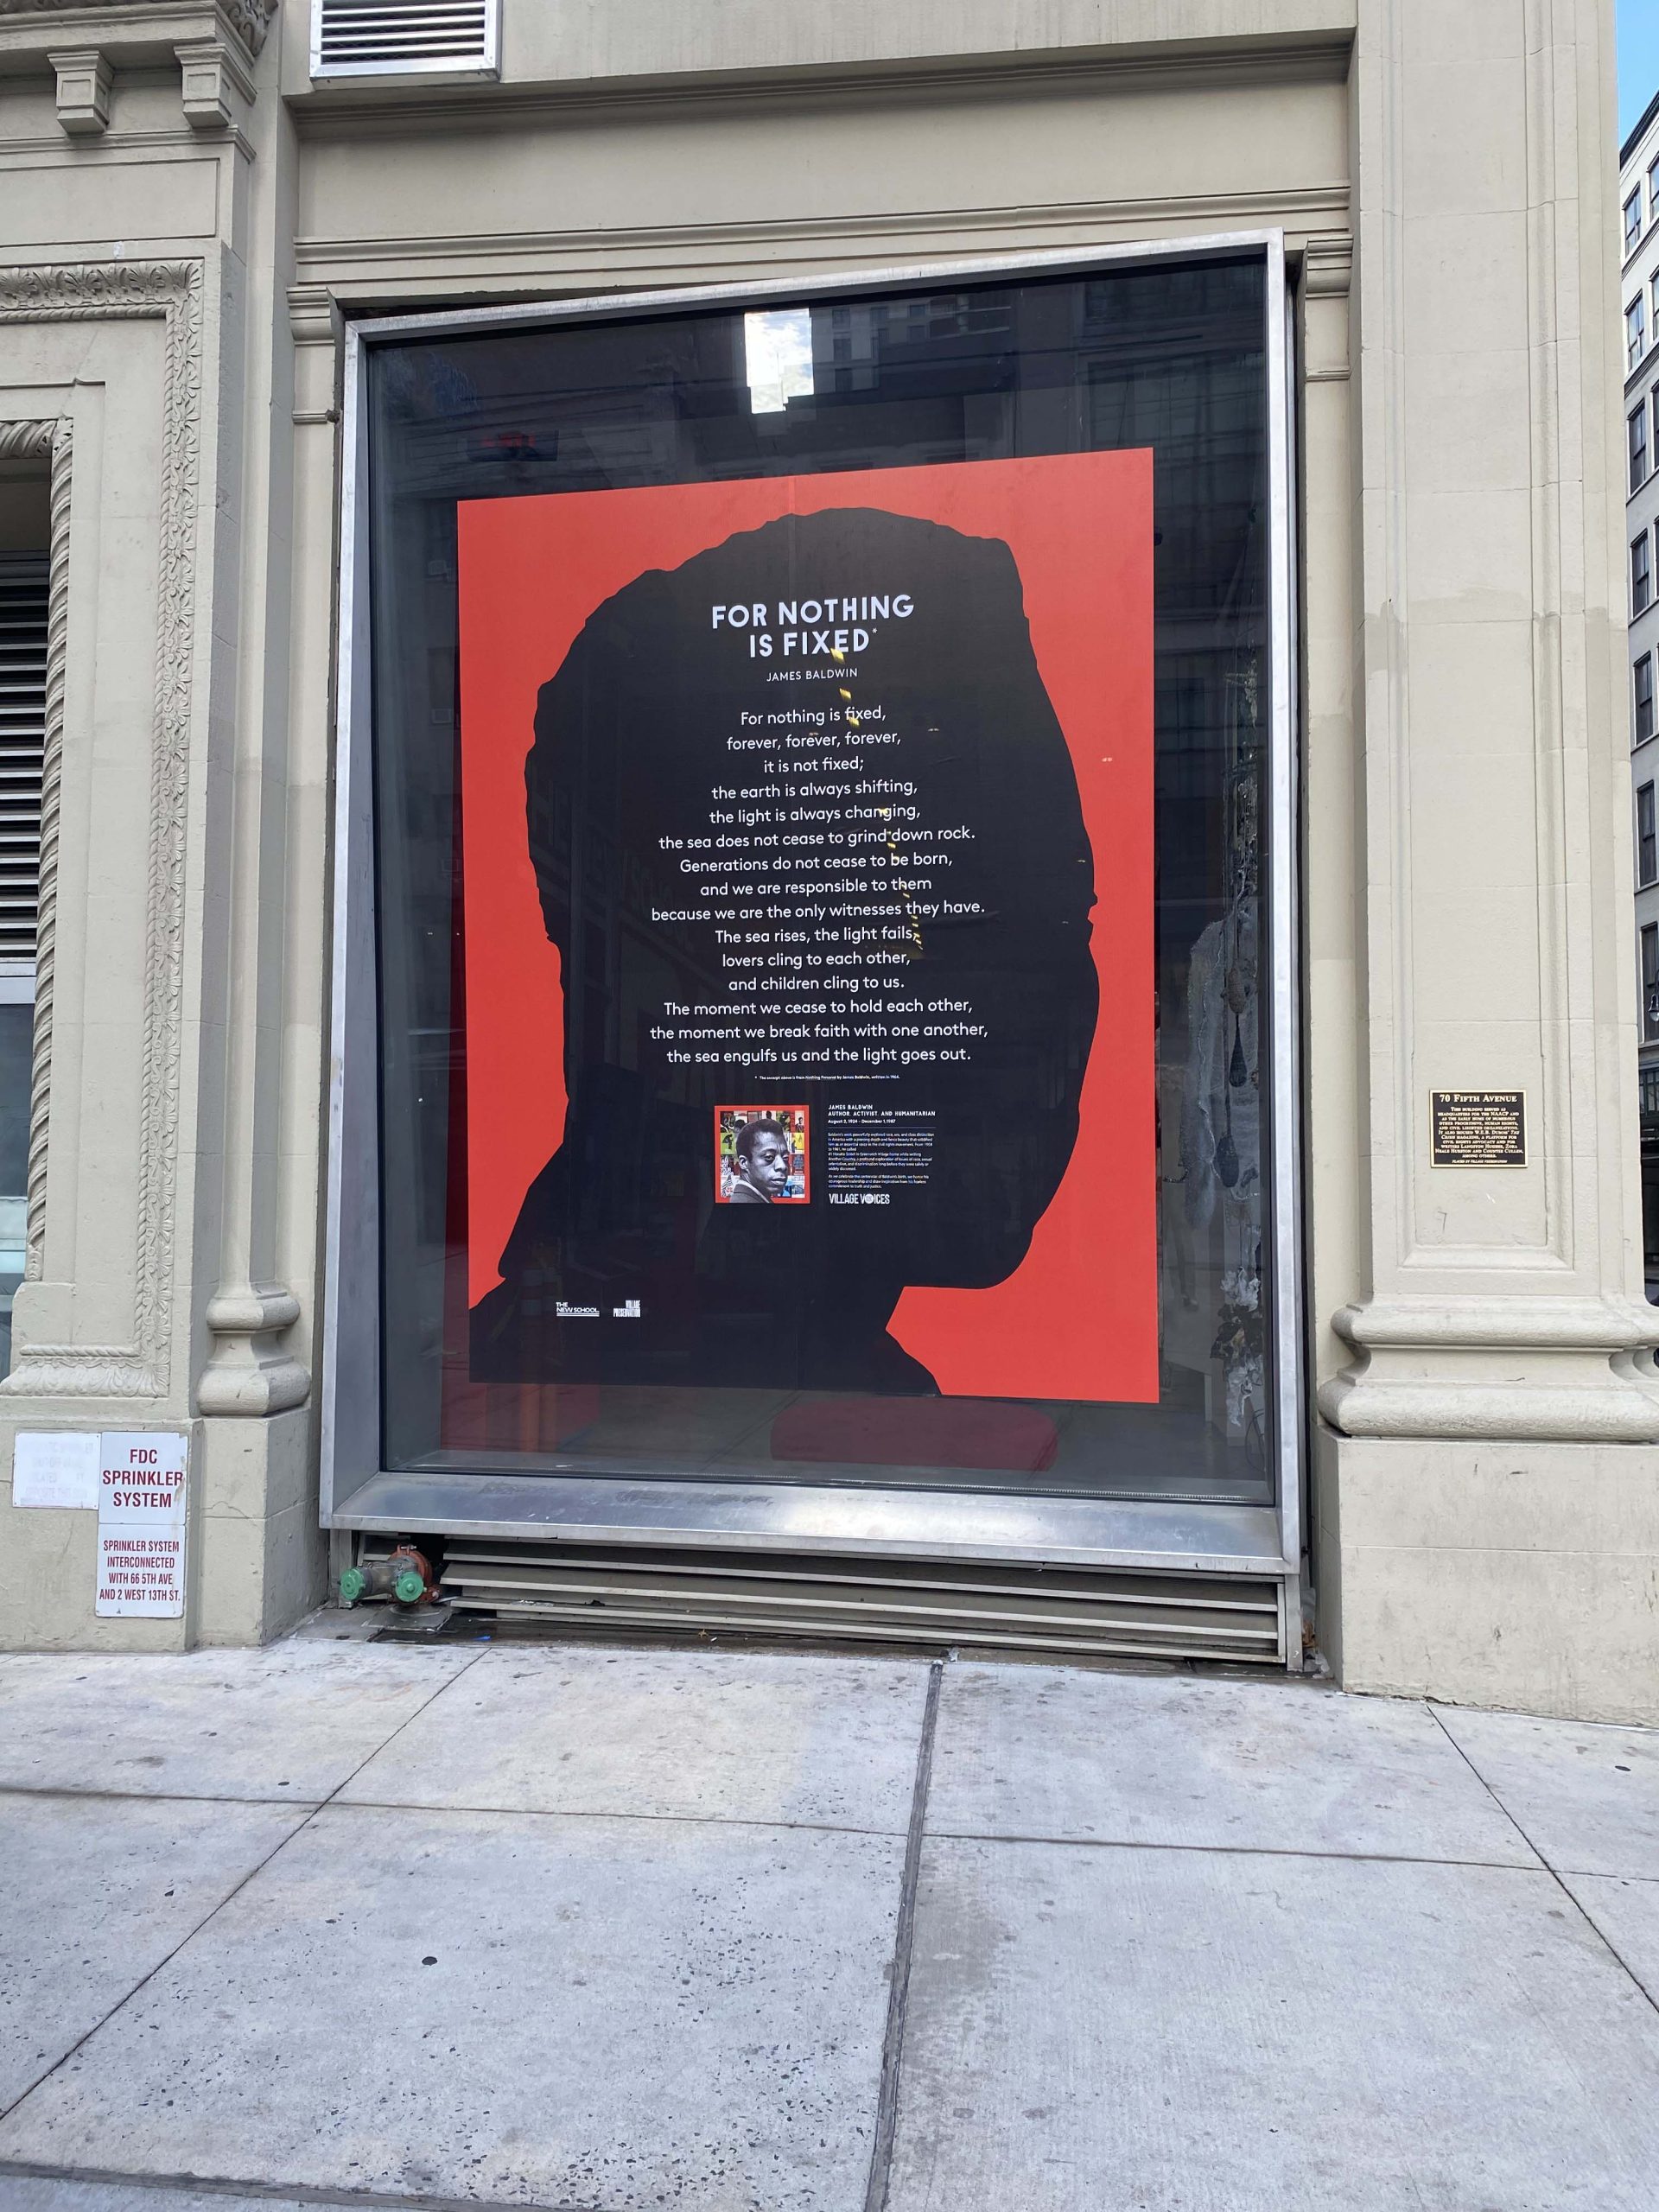
[[[442,1597],[465,1613],[586,1628],[1285,1663],[1270,1575],[449,1537]]]

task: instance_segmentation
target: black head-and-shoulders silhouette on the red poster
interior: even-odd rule
[[[710,633],[710,604],[852,580],[860,593],[909,593],[914,613],[872,624],[845,670],[825,661],[768,688],[741,639]],[[880,1206],[785,1197],[792,1137],[783,1119],[768,1126],[763,1102],[732,1139],[723,1199],[710,1121],[730,1099],[719,1053],[732,1046],[699,1055],[664,1020],[668,1002],[708,1006],[723,991],[714,916],[681,858],[708,827],[710,790],[750,774],[732,732],[768,708],[825,708],[825,743],[863,761],[845,781],[902,774],[920,821],[956,832],[931,860],[883,854],[814,876],[812,927],[834,949],[836,905],[860,918],[898,900],[905,962],[891,991],[956,1009],[973,1024],[971,1048],[947,1060],[918,1035],[922,1051],[905,1064],[887,1055],[880,1075],[827,1048],[816,1066],[770,1071],[821,1086],[814,1108],[847,1099],[927,1119],[927,1175]],[[860,710],[885,732],[863,754]],[[787,717],[790,730],[803,723]],[[1011,549],[843,507],[781,515],[637,575],[542,686],[524,794],[542,922],[560,951],[564,1115],[500,1252],[500,1283],[471,1310],[473,1380],[757,1387],[765,1343],[770,1389],[936,1391],[889,1334],[894,1307],[907,1285],[975,1290],[1020,1265],[1077,1144],[1099,1013],[1095,856]],[[741,1048],[745,1031],[732,1035]],[[827,1175],[821,1113],[799,1146],[805,1194]],[[560,1303],[597,1316],[560,1316]]]

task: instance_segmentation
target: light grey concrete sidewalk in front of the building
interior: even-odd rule
[[[7,2212],[1659,2201],[1655,1734],[363,1626],[0,1659]]]

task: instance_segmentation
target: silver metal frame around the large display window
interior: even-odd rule
[[[1270,717],[1265,845],[1265,1011],[1270,1234],[1263,1298],[1274,1323],[1270,1369],[1279,1473],[1274,1506],[1031,1498],[991,1491],[641,1478],[593,1469],[542,1473],[411,1471],[380,1458],[380,1155],[374,962],[374,810],[369,754],[367,349],[407,338],[557,330],[588,321],[938,290],[947,283],[1088,274],[1124,263],[1261,254],[1265,268]],[[321,1332],[321,1517],[325,1528],[562,1537],[790,1553],[872,1553],[1152,1573],[1267,1575],[1281,1586],[1285,1661],[1301,1666],[1307,1380],[1301,1194],[1298,646],[1294,332],[1283,230],[1210,232],[1088,250],[876,263],[823,276],[611,292],[502,307],[369,316],[345,327],[336,604],[334,958]]]

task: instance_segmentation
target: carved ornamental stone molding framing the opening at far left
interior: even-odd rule
[[[31,1345],[15,1349],[7,1396],[161,1396],[170,1378],[173,1221],[179,1152],[179,1040],[184,1020],[184,838],[195,672],[197,504],[201,498],[201,265],[197,261],[97,261],[0,272],[0,327],[157,316],[166,323],[161,429],[161,549],[150,739],[146,872],[144,1046],[139,1077],[137,1279],[131,1345]],[[49,639],[64,635],[69,482],[53,467],[53,599]],[[55,878],[62,686],[49,692],[51,854]],[[42,792],[42,889],[46,880]],[[42,898],[40,962],[51,1022],[53,905]],[[35,1015],[40,1020],[40,1015]],[[44,1234],[44,1095],[31,1124],[29,1272]]]

